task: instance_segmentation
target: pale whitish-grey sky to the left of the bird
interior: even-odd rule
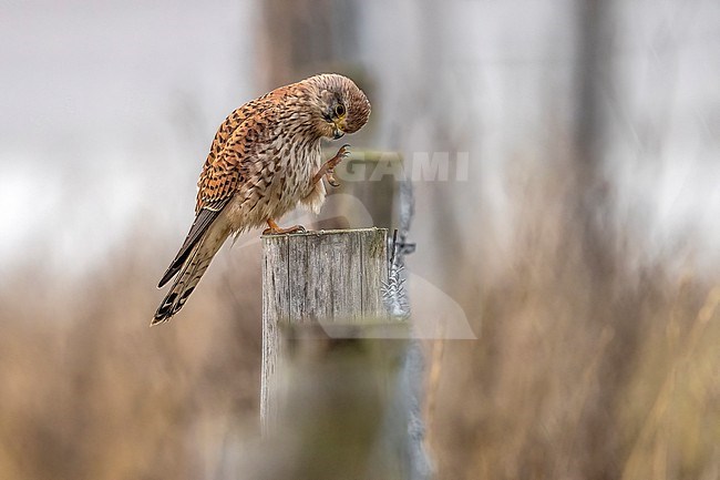
[[[192,194],[181,205],[165,194],[193,191],[188,167],[197,174],[217,124],[255,93],[251,7],[3,2],[0,258],[52,236],[58,257],[82,263],[138,215],[192,216]]]

